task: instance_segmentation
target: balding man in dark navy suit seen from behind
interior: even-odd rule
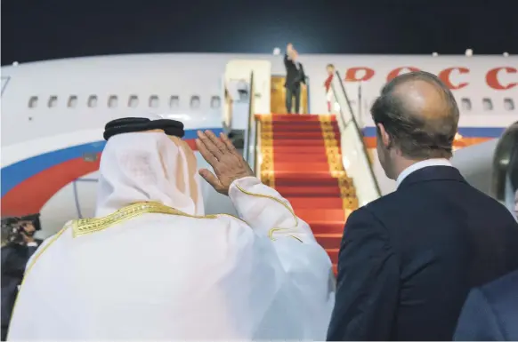
[[[518,269],[518,224],[450,165],[459,113],[439,78],[394,78],[371,115],[398,188],[345,224],[328,340],[451,340],[469,290]]]

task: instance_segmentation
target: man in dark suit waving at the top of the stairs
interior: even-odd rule
[[[302,84],[306,84],[303,65],[298,61],[298,52],[292,44],[287,44],[286,54],[284,55],[284,66],[286,67],[286,110],[288,114],[292,112],[292,101],[295,98],[295,114],[299,114],[300,94]]]

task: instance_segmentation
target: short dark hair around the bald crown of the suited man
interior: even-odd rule
[[[440,91],[445,101],[444,115],[434,118],[419,115],[406,105],[400,94],[394,93],[398,85],[411,81],[433,84]],[[451,157],[458,124],[457,101],[437,76],[425,71],[414,71],[393,78],[384,85],[370,114],[376,126],[378,123],[384,125],[393,145],[401,149],[403,156],[412,159]],[[379,128],[376,127],[376,131],[379,139]]]

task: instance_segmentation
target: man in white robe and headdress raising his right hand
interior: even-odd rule
[[[10,340],[326,338],[335,302],[327,253],[222,135],[198,132],[239,212],[203,216],[196,158],[173,120],[108,123],[94,219],[29,260]]]

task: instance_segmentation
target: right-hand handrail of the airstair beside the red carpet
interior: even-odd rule
[[[356,120],[356,115],[354,115],[354,111],[352,110],[351,101],[350,101],[349,97],[347,96],[347,92],[345,91],[344,82],[342,81],[342,77],[340,77],[340,73],[338,71],[336,71],[336,80],[337,80],[337,83],[339,84],[339,88],[335,86],[335,84],[336,84],[335,82],[332,82],[331,89],[334,92],[335,99],[338,100],[339,98],[343,97],[345,105],[346,105],[346,108],[344,108],[344,106],[341,103],[339,103],[339,105],[340,105],[340,109],[339,109],[340,115],[338,115],[339,120],[341,121],[344,129],[347,128],[350,124],[353,125],[354,131],[356,133],[355,135],[357,135],[357,139],[360,141],[360,146],[362,149],[361,151],[358,151],[358,153],[360,155],[362,155],[363,158],[366,159],[366,164],[368,165],[367,167],[368,167],[368,173],[369,173],[368,178],[370,178],[372,184],[375,187],[376,195],[377,195],[377,197],[379,197],[379,196],[381,196],[381,190],[380,190],[379,184],[377,182],[376,174],[372,167],[372,163],[370,162],[369,157],[368,157],[368,148],[365,145],[365,141],[363,139],[363,133],[360,130],[360,126],[358,124],[358,121]],[[336,88],[338,88],[338,89],[336,89]],[[342,95],[342,96],[340,96],[340,95]],[[351,116],[351,118],[349,120],[345,119],[344,110],[349,110],[349,113]],[[344,153],[344,151],[342,151],[342,153]]]

